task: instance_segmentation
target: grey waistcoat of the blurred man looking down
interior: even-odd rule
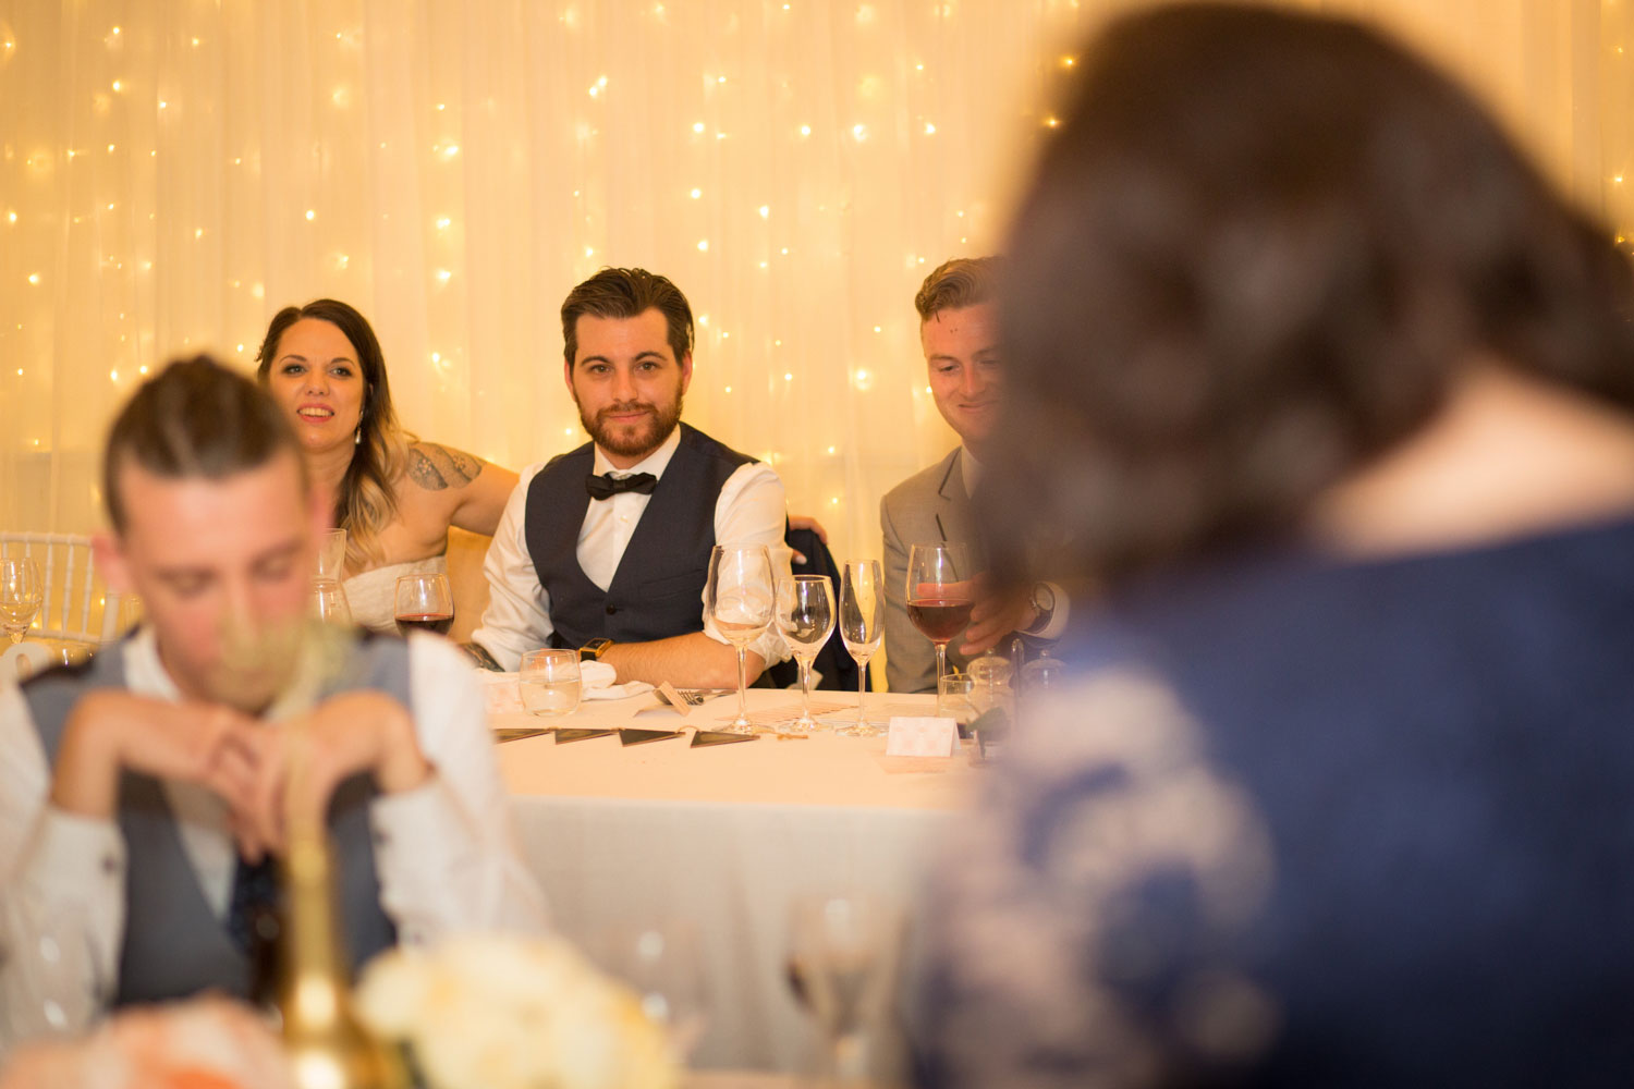
[[[46,759],[57,762],[69,710],[87,692],[124,687],[126,643],[109,643],[85,666],[52,669],[23,687]],[[389,637],[363,637],[353,648],[345,678],[325,694],[377,689],[404,707],[408,702],[408,648]],[[369,833],[369,802],[376,789],[368,776],[353,776],[335,789],[328,829],[335,842],[338,900],[351,968],[395,944],[397,929],[381,909]],[[126,771],[119,779],[119,831],[124,834],[124,944],[114,1004],[185,998],[216,988],[239,998],[250,991],[250,962],[227,936],[204,900],[188,862],[176,818],[163,785]]]

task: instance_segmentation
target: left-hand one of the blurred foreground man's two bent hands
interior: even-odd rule
[[[126,691],[82,697],[62,733],[51,780],[59,810],[108,820],[124,769],[196,782],[234,803],[257,777],[258,725],[219,704],[172,704]]]

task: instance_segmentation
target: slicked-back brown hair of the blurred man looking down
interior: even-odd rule
[[[222,480],[281,451],[294,456],[306,488],[306,460],[278,405],[252,379],[209,356],[180,359],[142,382],[113,421],[103,451],[108,518],[124,532],[119,472],[126,465],[167,480]]]

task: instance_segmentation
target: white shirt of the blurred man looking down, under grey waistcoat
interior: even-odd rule
[[[113,648],[105,653],[114,653]],[[322,663],[310,655],[268,728],[301,705]],[[180,700],[152,629],[124,645],[126,687]],[[435,774],[423,785],[369,805],[381,906],[399,942],[420,944],[471,929],[546,927],[544,896],[516,851],[505,785],[493,759],[482,692],[471,661],[448,642],[408,637],[410,710]],[[211,909],[227,916],[237,851],[227,807],[204,787],[165,782],[183,849]],[[116,820],[92,820],[49,803],[51,771],[15,682],[0,682],[0,1009],[56,1002],[70,1027],[98,1012],[93,991],[114,989],[124,934],[126,844]],[[39,971],[23,953],[51,936],[67,971]],[[0,1017],[0,1056],[8,1043]]]

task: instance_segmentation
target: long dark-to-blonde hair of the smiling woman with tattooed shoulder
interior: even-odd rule
[[[255,353],[255,377],[261,385],[266,385],[284,330],[302,318],[328,322],[345,333],[358,353],[358,369],[363,371],[358,446],[335,496],[335,524],[346,531],[346,567],[361,571],[381,562],[381,532],[397,518],[394,482],[408,460],[408,446],[415,442],[415,436],[397,424],[381,341],[355,307],[337,299],[314,299],[304,307],[284,307],[273,315],[261,348]]]

